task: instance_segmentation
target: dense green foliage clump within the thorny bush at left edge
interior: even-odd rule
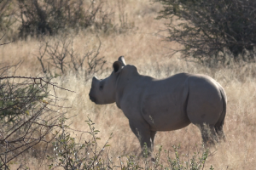
[[[27,81],[17,84],[12,79],[0,77],[0,121],[4,123],[20,122],[47,97],[38,84],[26,84]]]

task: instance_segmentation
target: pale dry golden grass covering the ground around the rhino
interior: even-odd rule
[[[110,5],[117,5],[117,3],[113,1]],[[209,158],[207,165],[212,164],[215,169],[255,169],[256,66],[231,65],[210,69],[178,59],[178,56],[167,58],[169,51],[165,47],[177,48],[178,46],[162,42],[160,37],[154,36],[160,28],[164,28],[163,20],[154,20],[156,11],[159,9],[159,4],[151,4],[147,0],[126,1],[125,13],[137,29],[108,36],[99,33],[98,36],[102,41],[100,55],[106,57],[107,66],[110,68],[119,55],[124,55],[127,64],[136,65],[140,73],[152,77],[167,77],[186,71],[207,74],[215,78],[224,87],[228,96],[227,116],[224,123],[227,142],[218,144],[217,152]],[[97,41],[96,34],[81,31],[79,35],[74,36],[74,48],[77,52],[83,53],[85,44],[93,47]],[[35,57],[39,43],[38,40],[31,38],[2,46],[1,63],[12,65],[23,60],[16,75],[37,76],[41,72],[38,59]],[[103,78],[107,77],[108,73],[96,76]],[[100,144],[103,144],[110,133],[113,133],[113,139],[110,140],[110,156],[138,153],[140,150],[138,141],[131,132],[128,120],[122,111],[115,104],[95,105],[90,102],[88,97],[90,81],[84,82],[83,75],[78,78],[70,73],[65,77],[57,77],[53,81],[63,88],[76,91],[75,94],[65,91],[57,92],[59,96],[68,99],[62,105],[72,106],[72,109],[67,111],[67,117],[72,117],[70,118],[70,122],[73,122],[71,127],[87,130],[88,127],[84,121],[89,116],[96,122],[96,128],[101,131],[102,143]],[[155,150],[158,145],[163,145],[166,150],[172,150],[173,144],[181,144],[180,151],[183,154],[188,151],[193,152],[196,144],[201,144],[201,133],[194,125],[177,131],[157,133]]]

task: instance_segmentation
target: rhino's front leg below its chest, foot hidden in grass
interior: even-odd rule
[[[154,133],[150,131],[150,127],[147,122],[137,122],[129,120],[129,124],[131,127],[131,131],[137,136],[139,139],[141,148],[143,152],[145,151],[145,144],[148,148],[148,155],[151,155],[153,152],[153,142],[150,140],[153,137],[154,140]],[[144,154],[143,154],[144,155]]]

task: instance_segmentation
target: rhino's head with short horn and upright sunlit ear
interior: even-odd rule
[[[99,80],[96,77],[92,78],[89,94],[91,101],[98,105],[115,102],[115,82],[125,65],[124,57],[120,56],[119,59],[113,63],[113,72],[109,77],[102,80]]]

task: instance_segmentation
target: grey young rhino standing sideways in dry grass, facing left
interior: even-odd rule
[[[157,131],[172,131],[195,124],[204,144],[225,140],[227,97],[212,77],[178,73],[155,79],[126,65],[123,56],[113,63],[111,75],[92,78],[90,100],[96,105],[116,103],[129,120],[142,149],[152,152]]]

